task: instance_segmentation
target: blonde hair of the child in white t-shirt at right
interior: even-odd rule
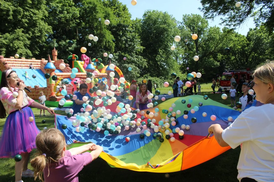
[[[267,60],[266,64],[254,71],[253,77],[264,83],[272,83],[274,85],[274,61]]]

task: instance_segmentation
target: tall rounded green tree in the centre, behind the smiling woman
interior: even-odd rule
[[[142,56],[147,59],[141,75],[149,73],[153,77],[169,78],[172,72],[179,74],[179,65],[170,50],[179,33],[175,18],[167,12],[146,11],[141,30],[141,46],[145,47]]]

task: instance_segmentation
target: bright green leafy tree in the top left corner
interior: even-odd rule
[[[0,54],[26,58],[38,54],[52,33],[47,16],[45,0],[0,1]]]

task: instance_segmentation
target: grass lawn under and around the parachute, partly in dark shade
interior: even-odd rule
[[[230,106],[230,100],[221,99],[221,94],[212,94],[210,89],[211,84],[201,84],[201,94],[208,95],[210,99],[220,102],[222,104]],[[169,89],[168,89],[169,88]],[[171,90],[171,87],[159,89],[161,94],[167,93]],[[238,98],[236,98],[237,100]],[[161,100],[157,101],[159,104]],[[44,127],[54,127],[54,117],[47,113],[46,117],[39,117],[40,110],[32,108],[36,118],[37,127],[42,130]],[[63,111],[56,111],[56,114],[64,115]],[[46,123],[42,124],[42,120]],[[0,119],[0,132],[4,126],[5,119]],[[206,150],[204,152],[207,152]],[[35,150],[31,153],[33,157]],[[127,169],[111,168],[101,158],[96,159],[91,164],[86,166],[79,173],[79,181],[185,181],[185,182],[198,182],[198,181],[211,181],[211,182],[233,182],[237,180],[238,171],[236,169],[240,148],[235,150],[228,150],[225,153],[205,162],[198,166],[194,166],[184,171],[169,173],[170,177],[165,178],[165,174],[149,173],[149,172],[135,172]],[[202,155],[202,153],[201,153]],[[197,156],[199,157],[199,156]],[[15,162],[14,159],[0,159],[0,182],[12,182],[15,181]],[[29,164],[29,168],[32,167]],[[24,182],[34,181],[33,178],[23,178]]]

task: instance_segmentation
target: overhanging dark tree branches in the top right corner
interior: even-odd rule
[[[249,17],[253,17],[257,25],[263,23],[269,33],[274,31],[274,1],[273,0],[239,0],[240,7],[235,6],[234,0],[201,0],[199,8],[208,19],[217,16],[226,26],[237,27],[242,25]]]

